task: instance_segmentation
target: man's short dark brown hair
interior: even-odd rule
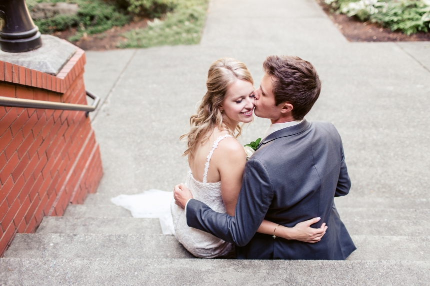
[[[264,71],[273,76],[275,104],[289,102],[294,120],[301,120],[318,99],[321,81],[315,67],[298,56],[269,55],[263,62]]]

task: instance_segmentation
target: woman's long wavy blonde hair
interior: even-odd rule
[[[235,130],[230,130],[222,123],[222,113],[219,109],[228,87],[237,79],[254,83],[246,65],[234,58],[223,57],[210,65],[207,72],[206,94],[201,99],[197,114],[189,118],[191,129],[180,136],[180,139],[186,138],[188,147],[182,156],[188,155],[188,158],[192,158],[197,144],[204,143],[212,134],[215,126],[218,126],[220,130],[227,130],[232,136],[237,131],[236,138],[240,135],[241,126],[237,125]]]

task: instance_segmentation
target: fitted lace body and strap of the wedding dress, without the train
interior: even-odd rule
[[[207,162],[204,166],[203,182],[199,182],[192,176],[188,167],[188,176],[185,186],[191,191],[192,197],[208,205],[212,210],[225,214],[224,203],[221,198],[221,182],[207,183],[207,170],[213,151],[218,146],[219,141],[230,135],[221,135],[213,143],[212,150],[207,155]],[[176,239],[194,256],[199,258],[214,258],[229,256],[234,253],[234,246],[206,232],[190,228],[186,224],[186,217],[183,209],[174,204],[170,204],[173,218],[174,232]]]

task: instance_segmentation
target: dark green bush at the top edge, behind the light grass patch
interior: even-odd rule
[[[128,11],[150,18],[170,12],[176,6],[176,0],[127,0],[127,2]]]

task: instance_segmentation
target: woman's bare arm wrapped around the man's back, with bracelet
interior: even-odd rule
[[[234,210],[242,186],[243,171],[246,164],[243,147],[235,139],[225,138],[218,145],[218,152],[213,153],[211,164],[216,166],[221,178],[221,197],[225,210],[228,215],[234,217]],[[321,239],[327,229],[325,223],[319,229],[310,227],[310,225],[318,221],[319,218],[314,218],[298,223],[293,228],[287,228],[263,220],[257,232],[273,235],[273,231],[275,231],[276,237],[315,243]]]

